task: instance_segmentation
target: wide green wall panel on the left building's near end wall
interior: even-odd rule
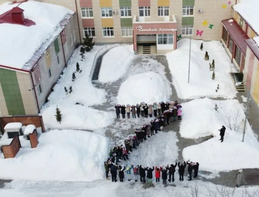
[[[0,68],[0,83],[9,115],[25,115],[16,72]]]

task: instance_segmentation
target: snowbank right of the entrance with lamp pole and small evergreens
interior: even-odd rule
[[[183,39],[177,42],[177,49],[167,53],[173,84],[179,98],[192,99],[200,97],[234,98],[235,86],[229,75],[231,61],[219,41],[203,42],[203,51],[200,50],[200,40],[191,41],[190,83],[188,83],[190,40]],[[204,60],[205,52],[210,56]],[[215,80],[212,80],[212,71],[209,63],[215,60]],[[219,90],[216,92],[217,85]]]

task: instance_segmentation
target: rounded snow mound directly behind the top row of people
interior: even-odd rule
[[[119,89],[117,103],[137,104],[144,101],[152,104],[167,101],[170,97],[170,85],[155,72],[140,73],[130,76]]]

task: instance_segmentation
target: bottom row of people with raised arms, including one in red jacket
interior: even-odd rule
[[[160,182],[160,178],[162,178],[162,182],[164,187],[167,185],[167,180],[169,182],[174,182],[174,175],[176,171],[176,167],[178,166],[178,172],[179,172],[179,180],[183,181],[184,178],[184,171],[186,164],[188,165],[188,174],[189,179],[192,180],[192,171],[194,171],[193,178],[196,178],[198,176],[198,170],[199,170],[199,163],[198,162],[190,162],[189,160],[185,162],[184,160],[179,161],[178,163],[175,162],[175,164],[169,164],[167,166],[156,166],[156,167],[144,167],[142,165],[132,165],[132,164],[126,164],[126,166],[123,165],[117,165],[116,163],[112,162],[111,159],[108,159],[106,162],[104,162],[104,167],[106,171],[106,178],[109,176],[109,170],[111,171],[112,176],[112,182],[117,182],[117,174],[119,174],[120,182],[124,181],[124,170],[126,170],[128,181],[131,180],[131,174],[133,173],[135,182],[138,181],[140,178],[141,183],[147,183],[152,184],[153,179],[153,171],[155,171],[155,179],[156,183]]]

